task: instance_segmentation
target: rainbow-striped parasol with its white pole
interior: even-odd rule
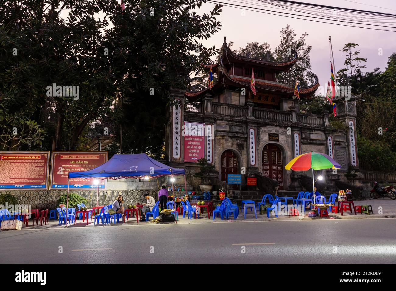
[[[341,169],[341,165],[330,156],[327,156],[327,154],[322,154],[321,152],[307,152],[296,156],[285,166],[285,169],[292,169],[294,171],[308,171],[312,169],[312,192],[314,194],[313,202],[315,203],[314,170]]]

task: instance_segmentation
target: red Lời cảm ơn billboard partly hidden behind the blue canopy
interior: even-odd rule
[[[87,171],[107,162],[109,152],[52,152],[51,184],[50,189],[67,189],[69,172]],[[73,178],[70,179],[70,189],[106,189],[106,180],[96,178]]]

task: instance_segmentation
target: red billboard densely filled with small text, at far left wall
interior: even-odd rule
[[[0,152],[0,190],[44,189],[49,152]]]

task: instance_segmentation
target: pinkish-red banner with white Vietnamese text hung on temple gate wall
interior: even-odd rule
[[[184,161],[196,163],[205,156],[205,124],[184,122]]]

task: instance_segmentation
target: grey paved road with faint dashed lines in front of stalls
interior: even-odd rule
[[[395,223],[348,219],[2,231],[0,263],[395,263]]]

